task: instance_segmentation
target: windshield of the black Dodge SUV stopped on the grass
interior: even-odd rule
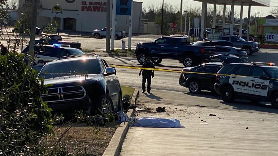
[[[97,60],[77,60],[70,62],[61,62],[55,64],[46,64],[39,77],[50,79],[54,77],[62,77],[79,74],[99,74],[100,67]]]

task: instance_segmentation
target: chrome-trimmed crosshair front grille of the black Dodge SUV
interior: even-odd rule
[[[43,102],[57,102],[66,100],[83,99],[86,91],[82,86],[50,88],[48,94],[41,96]]]

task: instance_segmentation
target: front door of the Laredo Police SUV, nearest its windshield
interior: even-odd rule
[[[252,68],[252,74],[249,78],[252,83],[250,84],[251,88],[249,90],[249,94],[266,97],[269,80],[260,79],[260,77],[268,77],[266,71],[260,66],[253,66]]]

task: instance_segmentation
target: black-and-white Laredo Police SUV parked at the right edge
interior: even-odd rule
[[[262,62],[226,64],[216,75],[214,89],[224,102],[235,98],[270,101],[278,108],[278,67]]]

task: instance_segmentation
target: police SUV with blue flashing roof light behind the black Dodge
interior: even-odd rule
[[[29,45],[23,49],[22,53],[28,53]],[[37,52],[34,65],[43,65],[47,62],[52,62],[60,57],[70,56],[70,55],[85,55],[81,50],[76,48],[71,48],[69,45],[53,44],[51,45],[35,45],[34,51]]]

